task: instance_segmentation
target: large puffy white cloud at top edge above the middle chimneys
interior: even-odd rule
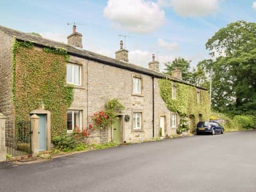
[[[108,0],[104,15],[114,26],[139,34],[148,34],[165,22],[161,7],[146,0]]]

